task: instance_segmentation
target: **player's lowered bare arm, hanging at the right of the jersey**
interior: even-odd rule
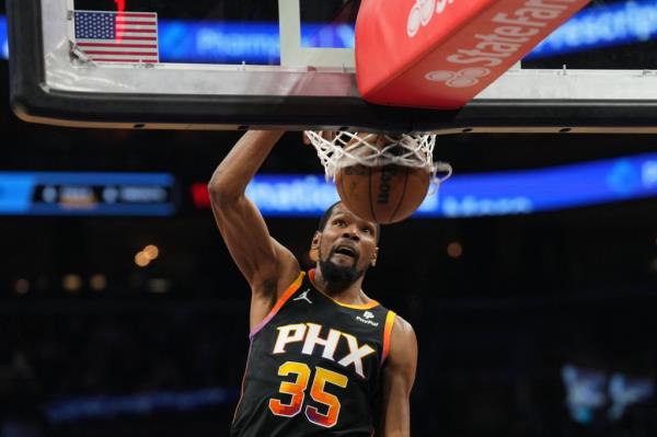
[[[390,353],[383,370],[383,437],[411,436],[411,390],[415,382],[416,368],[415,332],[408,322],[396,315],[390,340]]]

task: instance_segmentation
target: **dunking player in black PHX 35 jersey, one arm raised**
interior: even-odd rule
[[[212,211],[251,286],[251,349],[231,436],[410,436],[417,342],[360,288],[379,228],[342,204],[312,238],[308,274],[244,195],[280,131],[249,131],[209,183]]]

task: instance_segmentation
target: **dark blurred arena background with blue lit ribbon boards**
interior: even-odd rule
[[[655,1],[593,5],[657,16]],[[531,62],[655,69],[657,20],[642,20]],[[227,435],[249,290],[205,184],[241,134],[20,122],[0,33],[0,436]],[[657,138],[438,141],[452,187],[383,228],[366,283],[418,334],[413,434],[657,435]],[[272,233],[304,253],[314,150],[287,134],[261,173]]]

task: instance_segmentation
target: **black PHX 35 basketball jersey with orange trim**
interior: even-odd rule
[[[394,312],[339,303],[303,272],[251,348],[232,437],[371,437]]]

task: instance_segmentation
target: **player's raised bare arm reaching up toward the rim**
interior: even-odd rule
[[[210,182],[212,214],[223,241],[252,290],[251,327],[269,312],[300,272],[297,258],[269,235],[246,185],[283,131],[250,130],[221,161]]]

